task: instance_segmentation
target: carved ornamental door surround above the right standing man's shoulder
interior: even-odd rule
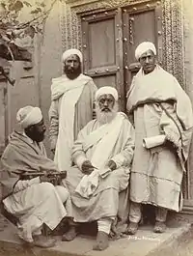
[[[163,1],[163,67],[172,72],[183,86],[183,33],[181,0]]]

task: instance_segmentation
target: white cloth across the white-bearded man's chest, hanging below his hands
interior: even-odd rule
[[[90,175],[85,175],[79,185],[76,187],[76,192],[85,198],[89,198],[95,191],[98,185],[98,178],[108,175],[109,169],[105,165],[114,151],[115,144],[120,136],[124,113],[118,114],[116,118],[109,124],[105,124],[91,132],[85,138],[83,150],[87,150],[97,144],[96,150],[91,158],[92,164],[97,168]]]

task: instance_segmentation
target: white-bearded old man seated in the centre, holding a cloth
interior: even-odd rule
[[[117,90],[98,89],[96,120],[80,130],[72,149],[75,166],[66,179],[73,224],[97,221],[95,250],[108,247],[112,221],[119,211],[119,193],[128,186],[133,148],[132,127],[124,113],[118,112]],[[126,203],[127,211],[128,200]],[[71,225],[63,241],[76,235],[76,225]]]

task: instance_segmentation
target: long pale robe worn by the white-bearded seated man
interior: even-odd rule
[[[104,134],[99,136],[99,133],[95,133],[95,131],[100,127],[98,122],[94,120],[79,132],[78,139],[74,143],[72,150],[72,158],[76,166],[69,169],[66,179],[72,205],[71,216],[74,217],[75,221],[87,222],[97,220],[101,217],[114,218],[117,214],[124,221],[126,220],[128,213],[128,194],[126,188],[128,186],[130,163],[133,156],[134,133],[126,117],[120,122],[122,123],[120,124],[119,135],[112,149],[108,148],[111,147],[111,141],[109,141],[109,143],[105,143],[98,156],[101,159],[103,154],[106,154],[106,151],[109,152],[106,160],[113,159],[117,164],[117,169],[111,172],[106,178],[102,179],[99,177],[98,186],[89,198],[84,198],[75,192],[77,185],[84,177],[84,174],[81,172],[82,161],[85,159],[92,160],[99,144],[110,135],[110,132],[115,127],[114,125],[109,126],[105,136]],[[85,150],[85,143],[92,133],[95,133],[96,140],[95,136],[93,136],[93,143]],[[111,136],[109,138],[114,139]],[[105,164],[105,162],[103,163]],[[101,166],[102,162],[99,161],[98,164]],[[95,166],[97,166],[97,163],[95,163]]]

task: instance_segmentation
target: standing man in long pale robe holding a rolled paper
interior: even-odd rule
[[[181,210],[181,181],[193,128],[188,96],[178,80],[156,64],[155,55],[153,43],[137,46],[135,56],[141,69],[127,94],[127,111],[136,134],[130,178],[130,235],[138,229],[142,204],[154,206],[155,233],[165,231],[169,210]]]

